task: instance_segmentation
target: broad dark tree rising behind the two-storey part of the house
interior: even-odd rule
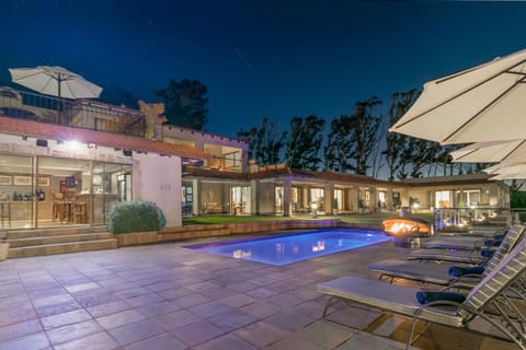
[[[172,79],[167,89],[156,93],[164,103],[168,124],[195,130],[203,130],[208,122],[206,94],[205,85],[190,79],[183,79],[181,82]]]

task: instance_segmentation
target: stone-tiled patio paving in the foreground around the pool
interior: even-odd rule
[[[407,250],[382,243],[283,267],[182,244],[10,259],[0,262],[0,349],[402,349],[393,339],[405,319],[342,304],[333,316],[348,327],[336,326],[321,319],[316,285],[376,278],[369,262]],[[434,338],[448,349],[460,341]],[[477,348],[515,349],[488,339]]]

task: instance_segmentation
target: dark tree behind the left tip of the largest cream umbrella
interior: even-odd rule
[[[389,108],[387,112],[387,118],[389,125],[393,125],[400,119],[401,116],[408,112],[411,105],[416,101],[420,95],[420,91],[412,89],[407,92],[397,92],[391,95],[389,102]],[[399,177],[405,178],[408,176],[405,167],[411,163],[411,153],[407,148],[408,137],[398,132],[388,132],[386,135],[386,149],[381,152],[386,158],[388,178],[395,179],[395,175],[398,173]]]

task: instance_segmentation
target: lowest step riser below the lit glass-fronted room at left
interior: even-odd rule
[[[104,240],[104,241],[87,241],[87,242],[65,243],[65,244],[57,244],[57,245],[9,248],[9,258],[90,252],[90,250],[101,250],[101,249],[115,249],[117,247],[118,247],[117,240],[113,238],[113,240]]]

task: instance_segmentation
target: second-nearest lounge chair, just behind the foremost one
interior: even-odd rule
[[[472,287],[493,270],[499,262],[505,257],[505,255],[512,250],[521,241],[526,240],[526,226],[514,225],[508,230],[508,233],[504,236],[502,243],[493,256],[483,264],[483,271],[480,277],[473,276],[462,277],[461,281],[457,283],[457,287]],[[422,264],[419,261],[386,259],[377,261],[368,266],[370,271],[379,272],[379,279],[388,278],[392,282],[393,279],[409,279],[423,283],[433,283],[441,285],[449,285],[456,281],[457,276],[451,276],[449,270],[455,265],[451,264]],[[467,266],[459,266],[464,268]]]

